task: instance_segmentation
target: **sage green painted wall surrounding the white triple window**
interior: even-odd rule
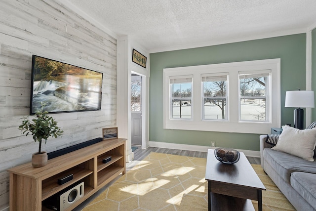
[[[149,140],[260,151],[259,135],[163,129],[163,68],[281,58],[282,125],[293,124],[294,109],[284,108],[285,91],[306,87],[306,34],[235,42],[150,54]]]

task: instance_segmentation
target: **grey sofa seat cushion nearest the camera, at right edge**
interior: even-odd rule
[[[293,172],[291,186],[316,209],[316,174],[306,172]]]

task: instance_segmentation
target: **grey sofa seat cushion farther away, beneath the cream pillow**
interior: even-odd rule
[[[316,161],[307,161],[271,148],[264,149],[263,157],[265,162],[268,162],[278,172],[279,176],[288,183],[290,183],[290,176],[294,171],[316,173]]]

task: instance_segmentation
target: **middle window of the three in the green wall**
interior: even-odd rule
[[[228,73],[202,74],[203,120],[227,120]]]

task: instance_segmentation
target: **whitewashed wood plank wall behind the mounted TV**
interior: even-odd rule
[[[1,0],[0,210],[9,202],[6,170],[30,162],[38,149],[18,130],[29,114],[32,54],[103,73],[101,111],[52,114],[64,135],[43,150],[102,137],[102,128],[117,124],[117,40],[59,1]]]

